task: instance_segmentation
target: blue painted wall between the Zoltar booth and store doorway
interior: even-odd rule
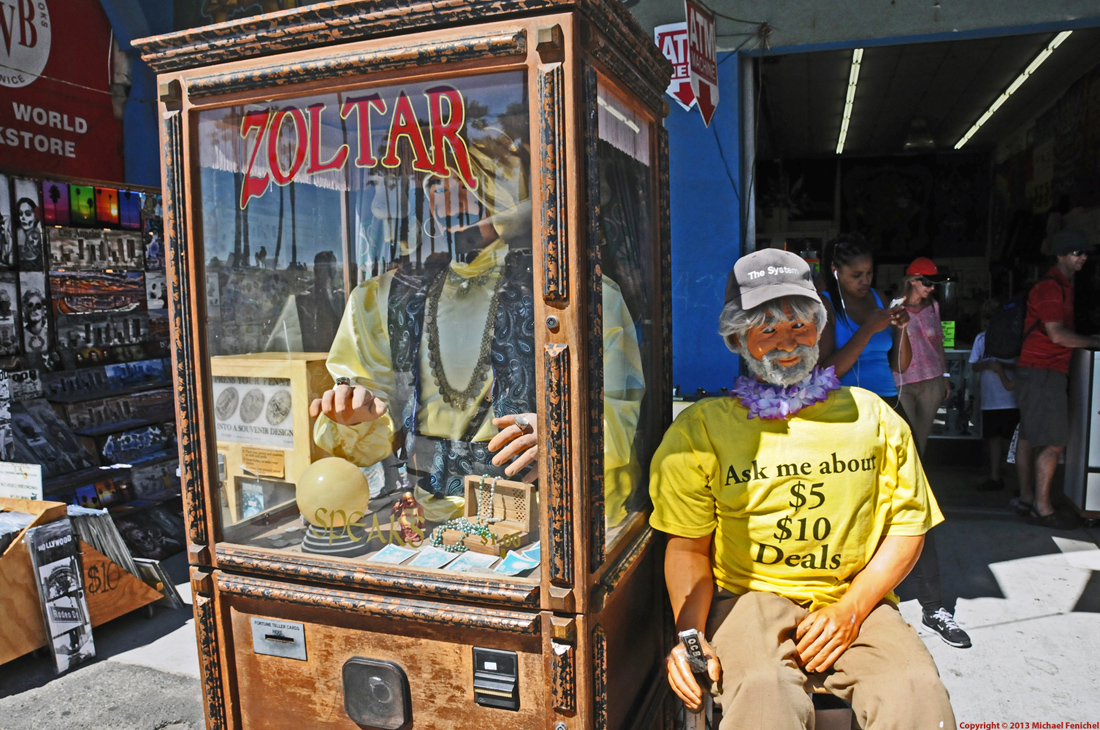
[[[736,54],[718,55],[718,107],[711,126],[672,99],[672,383],[682,395],[733,386],[738,358],[717,335],[726,276],[741,251],[740,75]]]

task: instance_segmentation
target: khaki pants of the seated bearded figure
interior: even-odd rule
[[[832,670],[809,676],[794,652],[794,629],[807,615],[773,594],[715,588],[706,634],[722,662],[722,682],[712,688],[721,730],[812,729],[806,693],[815,686],[849,703],[864,730],[956,727],[932,655],[892,604],[871,611]]]

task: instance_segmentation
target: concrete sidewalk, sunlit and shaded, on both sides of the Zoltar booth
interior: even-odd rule
[[[913,587],[899,589],[960,727],[1100,721],[1100,530],[1026,524],[1008,506],[1010,491],[974,490],[982,475],[972,457],[957,465],[965,461],[930,453],[928,474],[948,518],[937,528],[945,598],[974,646],[953,649],[921,627]],[[183,554],[168,567],[189,600]],[[98,628],[95,640],[97,659],[61,677],[47,655],[0,666],[0,730],[204,727],[189,611],[139,611]]]

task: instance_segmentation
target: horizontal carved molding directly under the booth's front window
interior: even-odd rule
[[[284,580],[366,588],[441,600],[537,608],[539,585],[509,583],[507,579],[455,574],[454,577],[426,572],[387,571],[362,563],[337,563],[331,560],[294,553],[220,543],[216,549],[218,567]]]

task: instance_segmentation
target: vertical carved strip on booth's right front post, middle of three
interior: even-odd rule
[[[550,517],[550,582],[573,585],[572,422],[569,345],[546,346],[547,484]]]

